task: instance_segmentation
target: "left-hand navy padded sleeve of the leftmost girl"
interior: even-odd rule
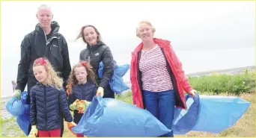
[[[37,125],[37,105],[33,87],[30,91],[30,123],[31,125]]]

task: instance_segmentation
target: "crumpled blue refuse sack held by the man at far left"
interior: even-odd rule
[[[25,104],[27,96],[28,92],[21,92],[20,99],[13,97],[6,105],[7,112],[16,116],[16,122],[26,136],[29,134],[28,127],[30,125],[30,106]]]

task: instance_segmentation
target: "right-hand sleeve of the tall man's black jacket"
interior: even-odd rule
[[[65,40],[64,37],[62,37],[63,40],[63,49],[62,49],[62,57],[63,57],[63,71],[62,71],[62,76],[64,78],[64,89],[67,84],[67,79],[68,76],[70,75],[71,72],[71,65],[70,65],[70,55],[67,47],[67,41]]]

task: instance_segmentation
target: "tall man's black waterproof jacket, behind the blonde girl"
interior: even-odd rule
[[[36,84],[33,74],[33,63],[39,57],[46,57],[55,71],[61,72],[64,82],[67,81],[71,72],[69,51],[65,38],[58,33],[60,26],[58,22],[52,22],[52,31],[46,35],[39,24],[35,30],[25,35],[21,43],[21,58],[18,66],[17,86],[16,90],[24,91],[27,83],[33,85],[28,86],[28,91]],[[29,94],[29,92],[28,92]]]

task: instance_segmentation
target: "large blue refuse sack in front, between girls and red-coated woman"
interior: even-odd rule
[[[72,131],[87,137],[159,137],[171,130],[147,110],[115,98],[94,96]]]

